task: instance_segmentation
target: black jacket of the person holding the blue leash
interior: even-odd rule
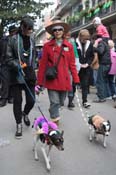
[[[16,34],[12,37],[10,37],[8,44],[7,44],[7,50],[6,50],[6,62],[10,70],[11,75],[11,84],[24,84],[24,79],[26,81],[36,81],[35,77],[35,45],[33,38],[30,38],[32,41],[32,61],[31,65],[27,65],[25,74],[22,74],[22,69],[20,66],[20,60],[22,60],[23,53],[21,47],[19,47],[19,34]],[[31,68],[31,69],[30,69]],[[27,75],[28,74],[28,75]],[[27,79],[28,77],[28,79]]]

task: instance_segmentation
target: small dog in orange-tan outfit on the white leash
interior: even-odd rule
[[[111,123],[105,120],[100,115],[92,115],[88,119],[89,124],[89,140],[93,138],[97,140],[97,135],[103,135],[103,146],[106,147],[106,136],[109,136],[111,130]]]

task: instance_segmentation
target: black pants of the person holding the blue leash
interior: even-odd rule
[[[25,114],[29,114],[35,103],[35,86],[31,84],[27,85],[31,93],[24,84],[17,84],[13,86],[13,112],[17,124],[22,122],[22,91],[24,90],[25,92],[26,103],[23,110]]]

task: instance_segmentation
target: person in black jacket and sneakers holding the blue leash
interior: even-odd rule
[[[16,120],[16,138],[22,136],[22,117],[30,126],[28,114],[35,103],[35,47],[31,37],[33,21],[29,17],[22,19],[20,29],[11,37],[7,46],[7,64],[9,66],[13,87],[13,112]],[[25,91],[26,104],[22,111],[22,91]]]

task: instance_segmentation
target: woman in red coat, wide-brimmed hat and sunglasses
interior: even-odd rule
[[[52,39],[43,46],[43,55],[38,70],[38,85],[48,90],[50,100],[50,117],[53,122],[59,123],[59,108],[64,104],[66,93],[71,90],[70,72],[75,84],[79,83],[79,77],[75,65],[74,50],[71,43],[64,39],[64,33],[69,31],[69,25],[60,20],[54,20],[46,27],[46,31],[52,35]],[[53,80],[46,79],[46,68],[53,66],[61,53],[57,66],[57,77]]]

